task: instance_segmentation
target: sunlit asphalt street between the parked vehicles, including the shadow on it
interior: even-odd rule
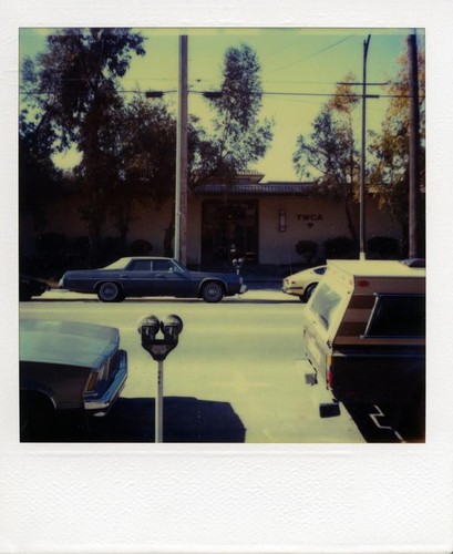
[[[20,317],[119,327],[128,353],[127,382],[112,411],[86,427],[63,425],[58,440],[154,441],[157,363],[142,348],[137,325],[144,316],[176,314],[184,330],[164,362],[165,442],[367,442],[344,407],[339,417],[319,417],[319,403],[330,397],[307,383],[301,310],[274,285],[215,305],[171,298],[103,304],[94,295],[51,290],[21,302]],[[370,424],[368,413],[364,420]],[[395,437],[390,429],[374,440]]]

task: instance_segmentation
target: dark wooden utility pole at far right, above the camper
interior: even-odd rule
[[[409,61],[409,257],[420,257],[420,111],[416,35],[408,37]]]

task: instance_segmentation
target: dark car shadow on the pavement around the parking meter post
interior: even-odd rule
[[[120,398],[104,418],[55,418],[25,425],[21,442],[154,442],[155,400]],[[164,442],[245,442],[246,429],[228,402],[164,398]]]

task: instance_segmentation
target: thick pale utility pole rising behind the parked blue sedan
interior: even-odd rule
[[[187,35],[179,37],[174,257],[187,263]]]

